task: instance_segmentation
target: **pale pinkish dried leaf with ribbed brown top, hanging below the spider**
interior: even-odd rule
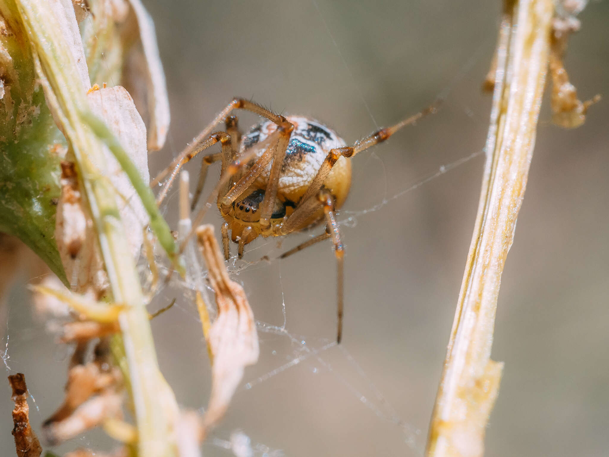
[[[203,417],[203,436],[224,416],[244,368],[258,361],[258,333],[241,285],[231,281],[212,225],[197,228],[199,248],[216,292],[218,316],[205,335],[213,354],[211,397]]]

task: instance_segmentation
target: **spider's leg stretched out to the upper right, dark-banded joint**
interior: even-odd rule
[[[300,200],[300,203],[305,203],[306,200],[313,197],[314,195],[317,195],[317,192],[319,192],[319,189],[322,188],[324,181],[328,177],[330,171],[332,170],[332,167],[334,166],[334,164],[336,164],[336,161],[340,158],[340,156],[344,156],[347,158],[353,157],[357,153],[362,152],[374,146],[375,144],[379,144],[389,139],[390,136],[396,133],[396,131],[400,130],[403,127],[406,127],[406,125],[414,124],[415,122],[417,122],[417,120],[421,119],[421,117],[435,113],[438,103],[439,101],[432,104],[423,111],[419,111],[414,116],[410,116],[404,120],[401,120],[401,122],[392,125],[392,127],[381,128],[381,130],[375,131],[375,133],[371,133],[364,139],[356,141],[353,146],[331,149],[324,161],[322,162],[322,166],[319,167],[319,170],[317,170],[317,175],[315,175],[315,178],[311,182],[311,185],[307,189],[303,198]]]

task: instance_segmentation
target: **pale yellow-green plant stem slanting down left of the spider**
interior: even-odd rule
[[[54,108],[62,118],[61,127],[76,158],[113,299],[127,307],[120,314],[119,323],[135,406],[138,453],[146,457],[175,455],[174,394],[158,369],[148,313],[113,187],[100,175],[105,164],[102,142],[80,119],[80,113],[88,108],[88,82],[77,71],[78,63],[70,52],[68,38],[56,25],[54,2],[21,0],[17,5],[33,50],[40,58],[38,76],[48,80],[52,88],[53,102],[57,105]]]

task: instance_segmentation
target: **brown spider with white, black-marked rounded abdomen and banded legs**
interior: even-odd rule
[[[224,257],[230,258],[230,239],[238,243],[241,259],[245,245],[257,237],[278,237],[311,228],[325,221],[325,231],[282,254],[285,258],[308,246],[332,239],[337,262],[337,343],[342,339],[343,246],[336,210],[347,199],[351,186],[351,158],[388,139],[400,128],[434,113],[437,103],[392,127],[382,128],[347,146],[331,128],[305,116],[281,116],[245,99],[235,98],[220,111],[183,152],[151,182],[171,176],[157,197],[160,204],[180,168],[211,145],[220,153],[203,157],[199,182],[192,200],[194,210],[209,165],[222,161],[216,186],[222,225]],[[266,118],[241,135],[231,111],[242,109]],[[224,120],[226,130],[211,133]],[[211,206],[211,202],[208,203]],[[202,210],[205,211],[205,208]],[[200,214],[196,220],[201,220]],[[195,223],[196,225],[196,223]]]

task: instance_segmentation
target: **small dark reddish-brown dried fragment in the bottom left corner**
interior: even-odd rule
[[[15,402],[12,433],[15,437],[17,457],[38,457],[42,452],[42,447],[32,427],[30,427],[26,377],[23,373],[10,375],[9,383],[13,388],[12,400]]]

